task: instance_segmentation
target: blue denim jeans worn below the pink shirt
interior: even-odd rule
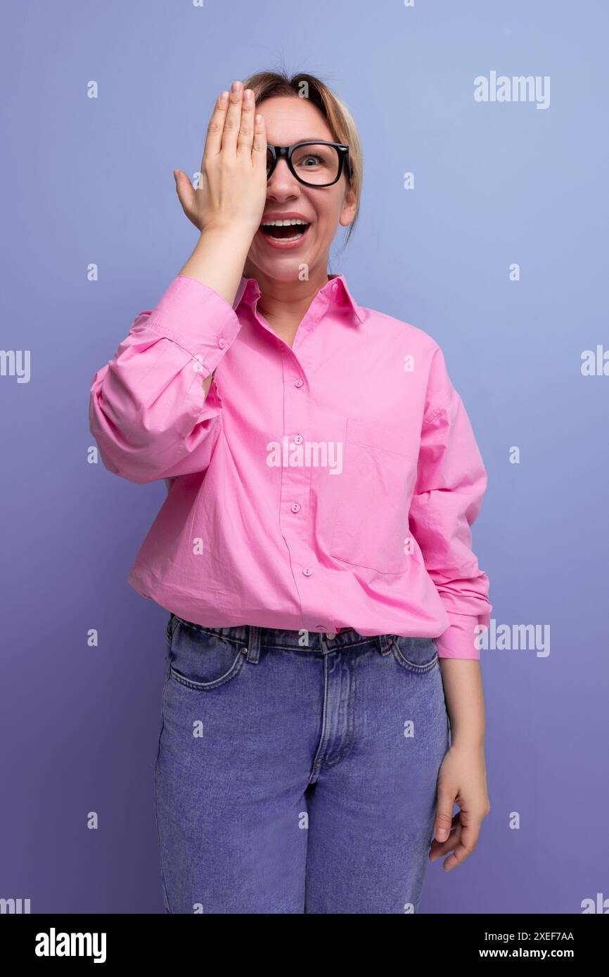
[[[435,642],[175,615],[166,635],[165,912],[416,912],[449,747]]]

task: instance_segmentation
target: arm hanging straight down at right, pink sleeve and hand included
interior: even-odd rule
[[[490,624],[489,578],[472,549],[471,525],[487,474],[465,407],[439,347],[432,359],[409,524],[450,626],[436,638],[452,744],[438,775],[431,861],[460,865],[490,811],[479,635]],[[453,818],[453,805],[460,808]],[[449,854],[450,853],[450,854]]]

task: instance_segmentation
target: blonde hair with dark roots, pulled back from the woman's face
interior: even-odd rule
[[[248,78],[241,79],[243,88],[251,88],[254,101],[258,106],[264,99],[274,97],[305,98],[317,106],[326,119],[327,126],[335,143],[343,143],[349,147],[349,162],[351,176],[347,168],[343,169],[347,187],[355,193],[356,210],[349,231],[345,238],[348,243],[355,229],[360,213],[360,199],[364,177],[364,159],[362,144],[357,126],[349,108],[327,87],[325,82],[314,74],[306,71],[293,74],[291,77],[284,71],[257,71]]]

